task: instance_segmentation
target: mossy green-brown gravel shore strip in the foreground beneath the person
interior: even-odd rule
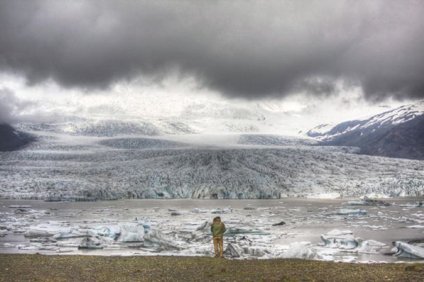
[[[424,264],[0,254],[0,281],[424,281]]]

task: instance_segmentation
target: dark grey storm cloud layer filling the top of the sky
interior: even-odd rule
[[[424,1],[1,1],[0,67],[105,88],[194,76],[228,96],[424,97]]]

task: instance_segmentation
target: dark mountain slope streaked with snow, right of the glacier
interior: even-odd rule
[[[395,108],[369,119],[321,124],[309,137],[321,144],[353,146],[363,154],[424,159],[424,101]]]

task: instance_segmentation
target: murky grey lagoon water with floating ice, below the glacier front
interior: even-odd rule
[[[208,238],[207,227],[199,229],[199,226],[204,222],[211,222],[213,217],[219,215],[230,230],[224,239],[224,244],[241,244],[242,247],[239,249],[244,248],[245,254],[240,258],[283,257],[290,244],[304,242],[308,248],[317,251],[320,258],[328,260],[418,261],[388,253],[394,241],[409,242],[424,239],[424,208],[407,205],[422,199],[387,199],[393,204],[392,206],[345,206],[344,203],[348,200],[297,198],[123,199],[95,202],[0,200],[0,252],[106,256],[212,256],[212,240]],[[361,213],[357,215],[340,214],[345,210],[358,209]],[[102,226],[114,228],[126,222],[145,228],[148,226],[146,232],[154,230],[159,233],[152,233],[156,234],[156,237],[146,239],[144,242],[104,240],[100,244],[102,249],[78,249],[82,239],[82,236],[77,236],[79,233],[97,230]],[[272,225],[279,222],[285,224]],[[386,244],[387,247],[361,252],[356,249],[322,246],[320,235],[334,229],[350,230],[355,238],[376,240]],[[37,238],[45,236],[25,237],[23,234],[28,231],[45,231],[50,235],[68,232],[71,235],[65,235],[64,238],[56,235],[56,242],[40,243]]]

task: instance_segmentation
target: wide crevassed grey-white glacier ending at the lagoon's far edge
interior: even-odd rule
[[[358,155],[278,135],[216,135],[206,144],[201,135],[33,134],[37,141],[26,149],[0,152],[1,199],[424,195],[423,161]]]

